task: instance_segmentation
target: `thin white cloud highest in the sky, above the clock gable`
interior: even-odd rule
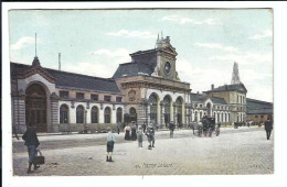
[[[192,24],[216,24],[214,19],[205,19],[202,21],[193,20],[191,18],[183,18],[179,15],[167,15],[160,19],[160,21],[172,21],[179,24],[192,23]]]

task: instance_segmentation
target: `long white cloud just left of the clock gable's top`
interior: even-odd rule
[[[124,36],[124,37],[140,37],[140,38],[156,38],[157,35],[149,31],[127,31],[119,30],[117,32],[109,32],[107,35]]]

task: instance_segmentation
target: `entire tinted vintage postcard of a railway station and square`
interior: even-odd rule
[[[273,9],[8,16],[13,176],[274,174]]]

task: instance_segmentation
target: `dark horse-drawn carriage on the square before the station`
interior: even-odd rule
[[[202,134],[204,136],[212,136],[213,131],[215,131],[215,118],[214,117],[203,117],[201,122],[192,122],[190,123],[190,129],[193,130],[193,134],[195,135],[195,131],[198,131],[198,135],[201,138]],[[220,131],[216,130],[216,135],[219,135]]]

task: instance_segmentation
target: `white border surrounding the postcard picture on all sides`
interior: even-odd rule
[[[286,64],[287,64],[287,9],[286,2],[3,2],[2,3],[2,179],[3,186],[286,186]],[[273,8],[275,44],[275,174],[251,176],[163,176],[153,177],[12,177],[11,154],[11,98],[8,11],[9,9],[111,9],[111,8]],[[264,91],[264,90],[263,90]]]

